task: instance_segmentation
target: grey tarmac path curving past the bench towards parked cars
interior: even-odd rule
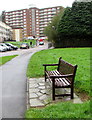
[[[29,58],[37,51],[47,49],[47,45],[19,50],[19,56],[0,67],[0,105],[2,118],[24,118],[26,110],[26,69]],[[2,56],[5,56],[4,53]],[[15,54],[9,52],[6,55]],[[30,71],[31,72],[31,71]]]

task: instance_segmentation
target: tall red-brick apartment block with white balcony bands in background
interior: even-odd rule
[[[36,7],[5,12],[5,22],[12,28],[23,29],[23,38],[44,36],[43,30],[61,6],[38,9]]]

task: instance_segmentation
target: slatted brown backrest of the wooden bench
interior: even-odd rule
[[[68,77],[67,79],[70,82],[74,82],[74,77],[75,77],[75,74],[76,74],[77,65],[73,66],[72,64],[62,60],[61,57],[60,57],[59,58],[59,65],[58,65],[57,70],[63,75],[73,74],[73,77]]]

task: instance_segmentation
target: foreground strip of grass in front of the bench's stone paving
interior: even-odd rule
[[[26,118],[91,118],[89,101],[83,104],[60,102],[44,108],[30,108]],[[64,119],[62,119],[64,120]],[[79,119],[78,119],[79,120]]]

